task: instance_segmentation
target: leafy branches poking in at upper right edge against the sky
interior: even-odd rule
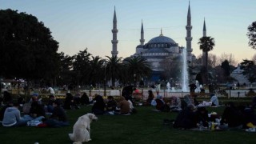
[[[256,50],[256,22],[252,22],[252,24],[248,26],[247,36],[249,38],[249,46]]]

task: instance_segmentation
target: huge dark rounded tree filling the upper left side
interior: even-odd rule
[[[58,42],[31,14],[0,10],[0,75],[53,80],[58,75]]]

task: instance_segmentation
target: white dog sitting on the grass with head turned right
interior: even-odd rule
[[[73,134],[69,134],[73,144],[89,142],[90,139],[90,122],[97,120],[94,114],[85,114],[78,118],[73,126]]]

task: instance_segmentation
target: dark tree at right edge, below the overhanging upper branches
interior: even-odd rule
[[[242,74],[246,75],[246,78],[248,78],[250,83],[256,82],[256,65],[254,64],[254,61],[245,59],[241,62],[240,68],[241,70],[244,70]]]

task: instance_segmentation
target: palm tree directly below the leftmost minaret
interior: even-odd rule
[[[106,56],[106,73],[112,80],[112,86],[114,86],[115,81],[119,78],[122,70],[122,57],[118,58],[117,56],[109,57]]]

